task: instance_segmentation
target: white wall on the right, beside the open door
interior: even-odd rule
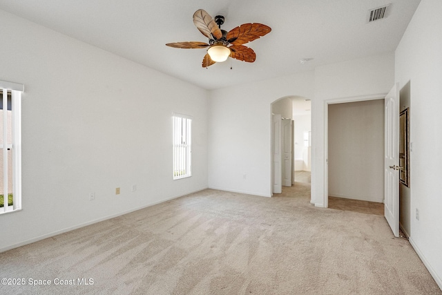
[[[441,15],[442,1],[421,1],[396,49],[395,78],[400,88],[410,82],[410,242],[442,288]]]

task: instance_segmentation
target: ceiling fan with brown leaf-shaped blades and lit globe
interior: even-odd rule
[[[240,61],[253,62],[256,60],[256,53],[249,47],[242,44],[256,40],[267,35],[271,28],[262,23],[244,23],[241,26],[227,32],[221,30],[224,17],[217,15],[215,19],[206,11],[199,9],[193,14],[193,23],[202,32],[202,35],[209,38],[209,44],[200,41],[185,41],[166,44],[174,48],[207,48],[207,53],[202,59],[202,67],[206,68],[227,60],[228,57]]]

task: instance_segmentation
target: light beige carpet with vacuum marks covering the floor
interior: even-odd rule
[[[309,193],[207,189],[12,249],[0,278],[26,285],[0,294],[442,294],[382,216],[316,208]]]

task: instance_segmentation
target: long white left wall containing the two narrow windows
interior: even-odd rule
[[[207,187],[207,91],[2,11],[0,28],[0,79],[25,85],[23,210],[0,216],[0,251]],[[193,116],[176,181],[173,111]]]

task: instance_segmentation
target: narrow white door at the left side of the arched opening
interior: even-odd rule
[[[282,139],[281,115],[272,115],[271,118],[271,152],[273,163],[273,193],[282,193]]]

